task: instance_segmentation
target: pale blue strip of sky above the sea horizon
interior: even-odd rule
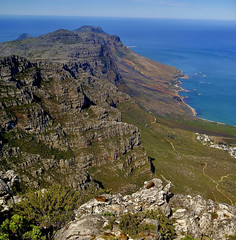
[[[0,0],[0,15],[236,20],[236,0]]]

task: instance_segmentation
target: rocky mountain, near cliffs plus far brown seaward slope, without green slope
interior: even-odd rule
[[[0,51],[1,170],[20,172],[22,188],[62,182],[68,171],[63,181],[82,188],[78,181],[90,182],[85,169],[107,163],[126,177],[151,174],[139,130],[116,108],[130,101],[126,93],[160,114],[191,112],[174,86],[180,71],[100,28],[60,29],[2,43]]]

